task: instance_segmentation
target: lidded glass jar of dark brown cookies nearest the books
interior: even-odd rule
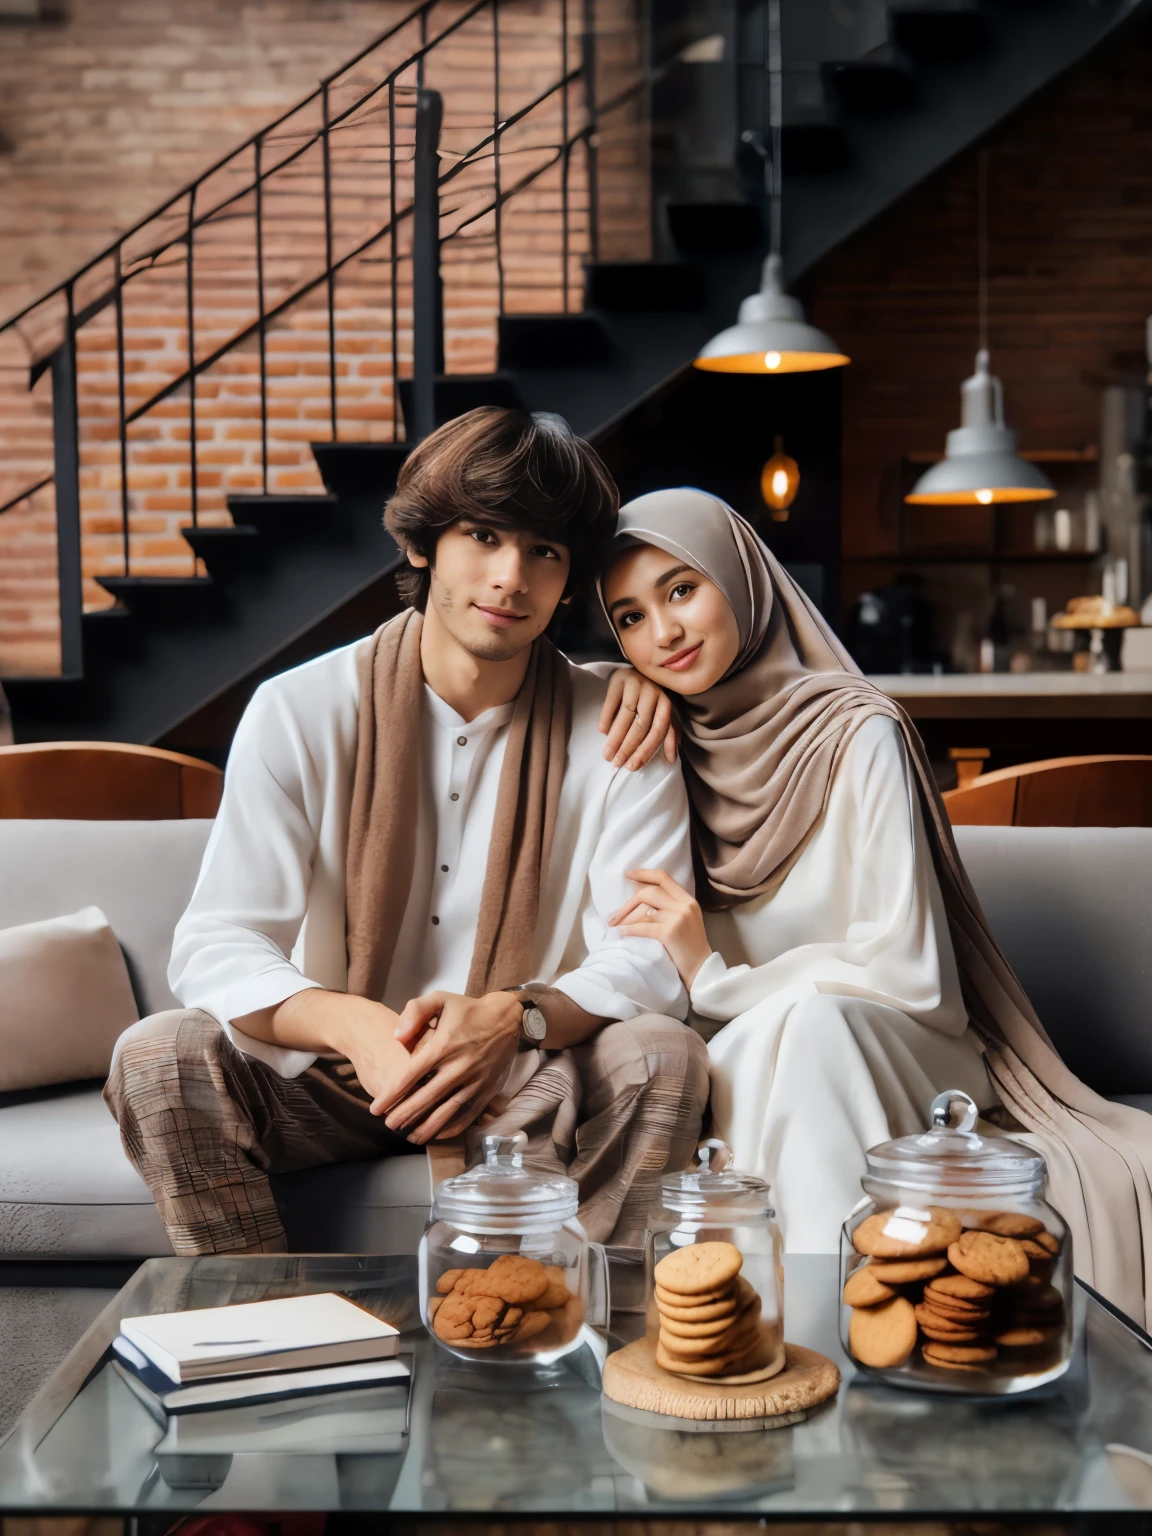
[[[608,1267],[576,1218],[570,1178],[524,1167],[527,1137],[485,1137],[484,1161],[445,1178],[419,1244],[419,1312],[459,1359],[548,1364],[608,1324]]]

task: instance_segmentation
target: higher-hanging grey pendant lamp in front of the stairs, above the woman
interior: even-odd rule
[[[740,304],[734,326],[700,349],[696,367],[708,373],[813,373],[840,369],[849,361],[831,336],[803,316],[803,304],[783,292],[780,261],[780,137],[783,123],[783,57],[780,51],[780,0],[768,3],[768,118],[771,151],[759,134],[743,141],[763,160],[765,187],[771,207],[770,255],[763,264],[760,292]]]

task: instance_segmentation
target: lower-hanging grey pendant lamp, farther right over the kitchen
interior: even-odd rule
[[[926,470],[905,501],[914,507],[991,507],[1006,501],[1046,501],[1052,482],[1021,459],[1015,433],[1005,425],[1005,390],[989,372],[988,355],[988,151],[978,177],[980,350],[975,373],[960,386],[960,425],[948,433],[945,456]]]

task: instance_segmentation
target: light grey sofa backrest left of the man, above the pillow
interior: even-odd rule
[[[0,928],[98,906],[127,960],[140,1017],[178,1008],[172,932],[192,895],[212,822],[0,819]]]

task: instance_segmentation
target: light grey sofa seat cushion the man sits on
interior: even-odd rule
[[[100,1089],[0,1107],[0,1255],[170,1253],[147,1186],[124,1157]],[[412,1253],[432,1197],[424,1154],[286,1174],[272,1181],[295,1252]]]

